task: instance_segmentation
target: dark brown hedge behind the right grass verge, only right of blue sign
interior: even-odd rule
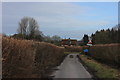
[[[98,61],[120,66],[120,44],[94,45],[89,51],[91,57]]]

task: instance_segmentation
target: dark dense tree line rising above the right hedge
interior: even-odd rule
[[[91,38],[93,44],[120,43],[120,24],[112,29],[96,31]]]

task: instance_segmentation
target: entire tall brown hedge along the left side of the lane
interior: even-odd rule
[[[3,37],[3,78],[41,77],[46,69],[60,63],[63,52],[52,44]]]

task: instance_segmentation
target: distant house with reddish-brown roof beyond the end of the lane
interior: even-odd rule
[[[77,45],[77,40],[76,39],[62,39],[62,41],[61,41],[61,45],[62,46],[65,46],[65,45],[67,45],[67,46],[75,46],[75,45]]]

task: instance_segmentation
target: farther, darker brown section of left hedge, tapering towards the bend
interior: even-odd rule
[[[35,45],[37,71],[44,77],[48,69],[60,65],[64,58],[64,48],[45,42],[35,43]]]

